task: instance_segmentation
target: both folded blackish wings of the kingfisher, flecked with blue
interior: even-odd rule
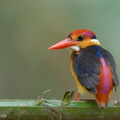
[[[79,82],[84,86],[90,93],[96,94],[96,86],[100,82],[100,56],[97,54],[97,49],[94,49],[95,46],[89,46],[83,49],[80,54],[74,56],[73,67],[75,73],[78,77]],[[116,65],[112,55],[99,47],[99,52],[101,52],[106,63],[110,65],[111,72],[113,74],[113,82],[115,86],[119,84],[117,74],[116,74]]]

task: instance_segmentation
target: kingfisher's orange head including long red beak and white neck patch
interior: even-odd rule
[[[91,45],[100,46],[95,33],[86,29],[78,29],[70,32],[66,39],[52,45],[48,49],[70,48],[73,51],[80,51],[80,48],[84,49]]]

